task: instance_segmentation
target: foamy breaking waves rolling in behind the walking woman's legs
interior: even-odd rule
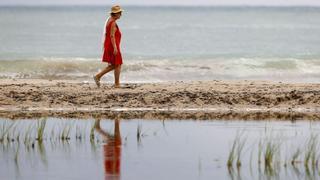
[[[89,79],[106,66],[94,58],[0,60],[0,78]],[[264,79],[320,80],[320,60],[294,58],[125,59],[128,82]],[[112,76],[106,76],[112,80]]]

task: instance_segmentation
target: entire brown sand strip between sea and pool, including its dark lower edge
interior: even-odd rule
[[[0,117],[320,119],[320,84],[197,81],[123,84],[0,80]]]

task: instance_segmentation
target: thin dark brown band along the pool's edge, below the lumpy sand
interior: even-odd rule
[[[0,110],[0,118],[5,119],[34,119],[34,118],[71,118],[71,119],[148,119],[148,120],[320,120],[319,111],[247,111],[217,110]]]

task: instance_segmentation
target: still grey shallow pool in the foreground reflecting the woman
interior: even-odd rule
[[[1,119],[0,179],[317,179],[318,167],[298,161],[319,132],[314,121]],[[228,168],[236,137],[241,166]],[[258,163],[259,142],[261,158],[278,144],[271,169]]]

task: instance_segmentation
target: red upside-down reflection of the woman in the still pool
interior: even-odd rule
[[[100,127],[100,120],[96,120],[95,129],[107,143],[103,146],[104,168],[106,179],[120,179],[121,166],[121,135],[119,120],[114,121],[114,134],[111,135]]]

